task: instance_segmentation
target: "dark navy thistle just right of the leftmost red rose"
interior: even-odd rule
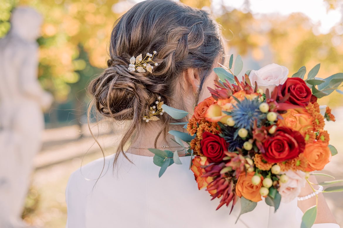
[[[245,140],[237,137],[237,128],[225,126],[221,122],[218,122],[218,124],[220,126],[220,129],[222,130],[220,136],[223,137],[227,143],[229,143],[228,151],[237,151],[237,147],[243,148]]]

